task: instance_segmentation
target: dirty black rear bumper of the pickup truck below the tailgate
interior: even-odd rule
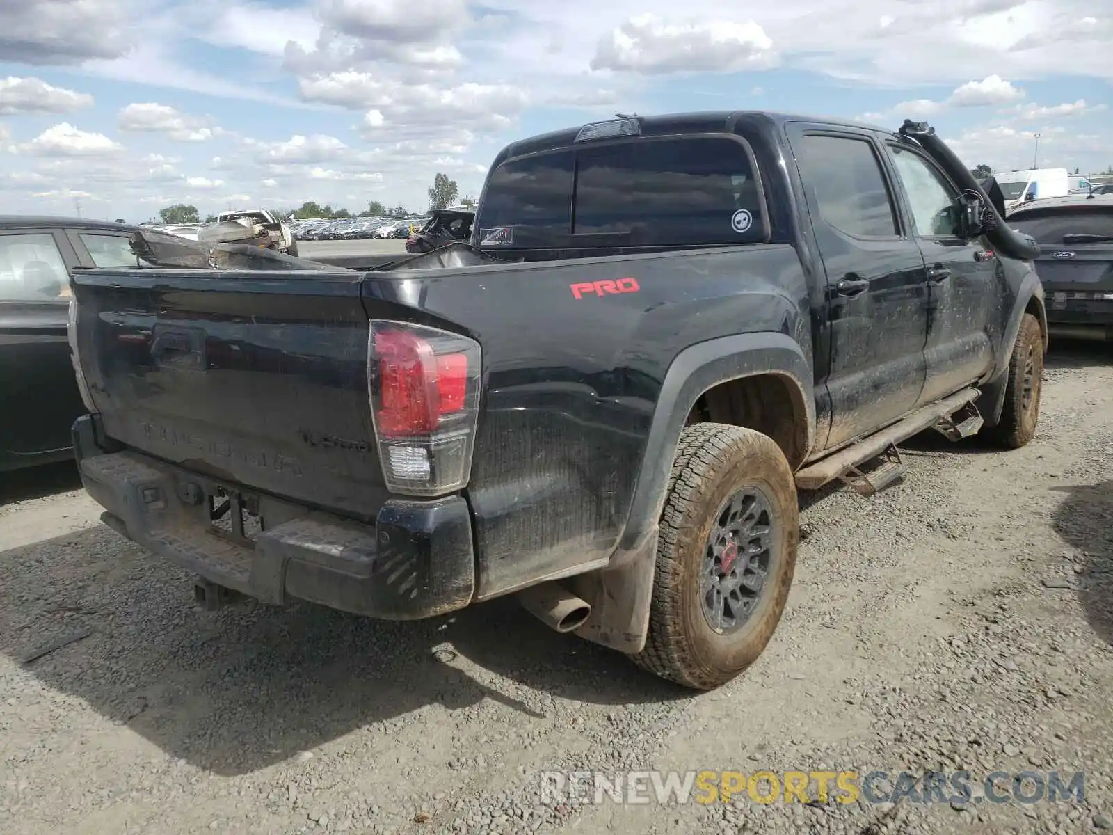
[[[209,497],[232,487],[114,448],[95,415],[73,424],[73,448],[81,482],[105,508],[107,524],[210,582],[264,602],[296,598],[416,620],[462,609],[475,591],[471,515],[461,497],[387,501],[371,525],[244,491],[245,507],[266,523],[246,538],[216,531],[209,520]]]

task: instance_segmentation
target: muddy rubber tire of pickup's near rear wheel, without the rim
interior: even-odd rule
[[[723,633],[705,613],[701,578],[708,573],[706,560],[721,564],[708,553],[712,529],[721,530],[726,503],[754,490],[767,500],[769,512],[762,518],[771,521],[768,571],[748,617]],[[649,633],[644,648],[631,658],[650,672],[700,690],[735,678],[761,654],[780,621],[798,544],[796,484],[780,448],[769,436],[740,426],[684,428],[661,513]],[[736,558],[730,563],[736,564]]]

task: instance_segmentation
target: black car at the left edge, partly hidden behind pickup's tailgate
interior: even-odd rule
[[[70,274],[136,266],[137,227],[68,217],[0,216],[0,471],[70,458],[86,409],[70,363]]]

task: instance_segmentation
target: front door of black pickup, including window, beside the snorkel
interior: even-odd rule
[[[889,143],[888,151],[927,266],[927,382],[919,402],[930,403],[993,367],[991,331],[1001,338],[1004,295],[996,289],[993,250],[982,238],[963,240],[955,234],[958,188],[910,145]]]

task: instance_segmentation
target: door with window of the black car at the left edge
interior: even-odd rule
[[[0,232],[0,466],[65,454],[85,412],[66,338],[76,265],[61,229]]]

